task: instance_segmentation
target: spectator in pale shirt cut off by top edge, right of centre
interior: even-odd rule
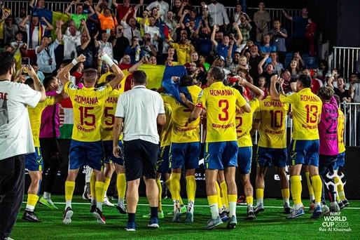
[[[225,7],[223,4],[219,4],[216,0],[211,1],[212,3],[207,6],[207,9],[209,9],[209,15],[211,17],[209,21],[210,26],[214,27],[214,25],[218,25],[219,28],[226,29],[230,21]],[[204,8],[206,5],[204,2],[202,2],[201,6]]]

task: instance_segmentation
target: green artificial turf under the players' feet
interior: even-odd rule
[[[52,196],[54,202],[64,203],[64,196]],[[26,197],[25,197],[26,199]],[[74,196],[72,222],[70,225],[62,224],[64,204],[56,204],[58,211],[53,211],[38,204],[35,212],[42,222],[32,223],[22,220],[22,211],[18,216],[11,237],[13,239],[360,239],[360,201],[349,201],[349,208],[342,209],[340,220],[311,220],[310,213],[306,213],[295,220],[286,220],[286,214],[282,213],[282,200],[265,199],[265,211],[256,216],[256,220],[244,220],[246,207],[237,208],[238,225],[233,230],[226,229],[223,224],[216,229],[204,229],[210,218],[207,199],[196,199],[195,216],[193,223],[172,223],[172,216],[166,215],[172,211],[172,201],[164,199],[165,218],[160,220],[159,229],[148,229],[148,219],[141,218],[148,213],[145,198],[141,198],[137,210],[137,231],[126,232],[124,227],[127,215],[120,215],[116,208],[104,206],[106,225],[98,225],[95,218],[89,213],[90,204]],[[307,203],[307,200],[303,200]],[[79,203],[79,204],[76,204]],[[280,207],[280,208],[279,208]],[[345,220],[346,218],[346,220]],[[332,223],[331,223],[332,222]],[[351,229],[351,232],[328,232],[331,229]],[[325,229],[326,232],[320,229]],[[338,230],[339,231],[339,230]]]

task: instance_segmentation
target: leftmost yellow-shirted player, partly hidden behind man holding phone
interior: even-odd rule
[[[25,84],[34,89],[33,79],[27,79]],[[64,96],[58,94],[55,97],[47,97],[45,101],[39,102],[36,107],[28,107],[35,152],[25,156],[25,168],[29,171],[29,176],[32,181],[30,182],[29,189],[27,190],[27,206],[24,214],[22,215],[22,219],[29,222],[40,222],[39,218],[37,218],[34,213],[34,208],[39,200],[38,192],[40,188],[41,175],[43,173],[43,157],[41,156],[39,140],[41,113],[46,106],[54,105],[56,102],[62,101],[64,97],[67,97],[66,94],[64,94]]]

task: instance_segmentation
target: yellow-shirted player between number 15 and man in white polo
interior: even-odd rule
[[[124,70],[124,75],[127,75],[127,70]],[[106,84],[109,84],[110,81],[116,78],[115,74],[110,74],[106,76]],[[113,206],[106,196],[106,191],[109,188],[111,176],[113,172],[116,171],[116,189],[118,190],[118,209],[119,213],[126,214],[126,208],[124,205],[125,192],[126,192],[126,180],[125,180],[125,168],[124,168],[124,159],[123,156],[117,158],[113,156],[113,124],[115,122],[115,109],[116,104],[118,103],[118,97],[120,96],[119,86],[113,88],[113,91],[109,93],[109,96],[105,100],[104,104],[104,114],[102,114],[102,124],[101,124],[101,133],[102,133],[102,145],[104,147],[104,201],[103,204],[106,206]],[[123,142],[121,141],[122,135],[120,136],[118,145],[123,147]],[[93,173],[92,178],[90,178],[90,186],[93,186],[95,183],[95,173]],[[92,187],[93,189],[93,187]],[[95,203],[95,196],[92,194],[92,201]]]

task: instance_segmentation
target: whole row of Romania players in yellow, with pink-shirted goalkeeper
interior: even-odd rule
[[[44,169],[39,132],[43,109],[55,105],[64,98],[70,98],[72,102],[74,128],[69,150],[69,172],[64,186],[66,206],[62,222],[68,225],[73,219],[76,220],[71,200],[81,166],[89,166],[93,170],[90,176],[90,212],[97,222],[106,223],[102,204],[114,171],[117,175],[118,192],[116,208],[122,214],[127,213],[125,193],[129,191],[127,181],[133,180],[133,173],[127,172],[129,163],[124,164],[124,154],[126,155],[128,150],[123,151],[123,135],[120,135],[116,127],[118,116],[122,115],[118,112],[117,106],[123,104],[120,95],[124,93],[121,93],[119,86],[120,82],[123,84],[125,74],[108,55],[101,55],[101,59],[111,66],[113,72],[106,77],[104,86],[96,86],[95,69],[84,71],[83,87],[69,81],[71,68],[78,62],[85,61],[85,57],[80,55],[61,69],[57,77],[50,77],[44,83],[50,90],[56,90],[60,79],[62,92],[48,95],[45,101],[34,108],[28,107],[36,152],[26,156],[26,167],[32,182],[28,189],[27,206],[23,215],[25,220],[39,221],[34,214],[37,201],[57,209],[50,198],[51,187],[46,187],[40,200],[37,195]],[[137,72],[141,71],[135,71],[134,78]],[[181,222],[182,215],[186,216],[185,222],[194,221],[197,187],[195,170],[199,168],[202,149],[201,124],[205,126],[204,165],[207,199],[211,211],[207,229],[224,222],[228,229],[235,228],[237,184],[241,184],[244,189],[247,219],[254,220],[258,213],[264,211],[264,178],[271,166],[276,168],[280,178],[284,212],[289,214],[287,218],[298,218],[305,214],[301,199],[302,169],[310,192],[311,218],[319,218],[330,211],[340,211],[340,208],[349,205],[341,180],[343,173],[340,170],[345,164],[343,138],[345,118],[333,89],[321,87],[315,95],[310,90],[312,81],[310,76],[301,74],[296,81],[296,92],[285,95],[282,90],[283,80],[274,75],[268,86],[270,94],[264,98],[264,92],[260,88],[240,76],[235,76],[235,86],[226,86],[224,79],[223,69],[212,67],[207,73],[207,88],[202,89],[193,85],[191,76],[181,78],[173,76],[171,82],[176,86],[176,94],[169,94],[166,91],[164,93],[164,89],[158,89],[164,109],[160,114],[165,114],[166,121],[158,126],[160,149],[156,174],[153,175],[160,192],[158,203],[155,204],[158,211],[153,213],[151,208],[151,213],[144,216],[151,218],[148,227],[159,227],[158,218],[164,218],[161,205],[161,178],[172,196],[174,204],[172,222]],[[28,81],[27,84],[33,87],[32,81]],[[127,118],[127,116],[121,117]],[[287,118],[293,121],[289,148],[286,146]],[[250,181],[250,172],[253,156],[252,138],[256,131],[260,134],[260,138],[254,155],[256,156],[256,204],[254,204],[254,187]],[[125,129],[123,134],[126,134]],[[148,176],[152,176],[148,173],[151,166],[143,164],[144,168],[141,168],[140,174],[149,178]],[[288,166],[290,181],[286,175]],[[241,182],[235,181],[237,168]],[[184,172],[187,206],[180,194],[180,180]],[[292,207],[289,202],[290,193],[293,199]],[[330,200],[330,208],[326,206],[325,196]],[[130,212],[126,229],[135,230],[134,215],[130,218]]]

